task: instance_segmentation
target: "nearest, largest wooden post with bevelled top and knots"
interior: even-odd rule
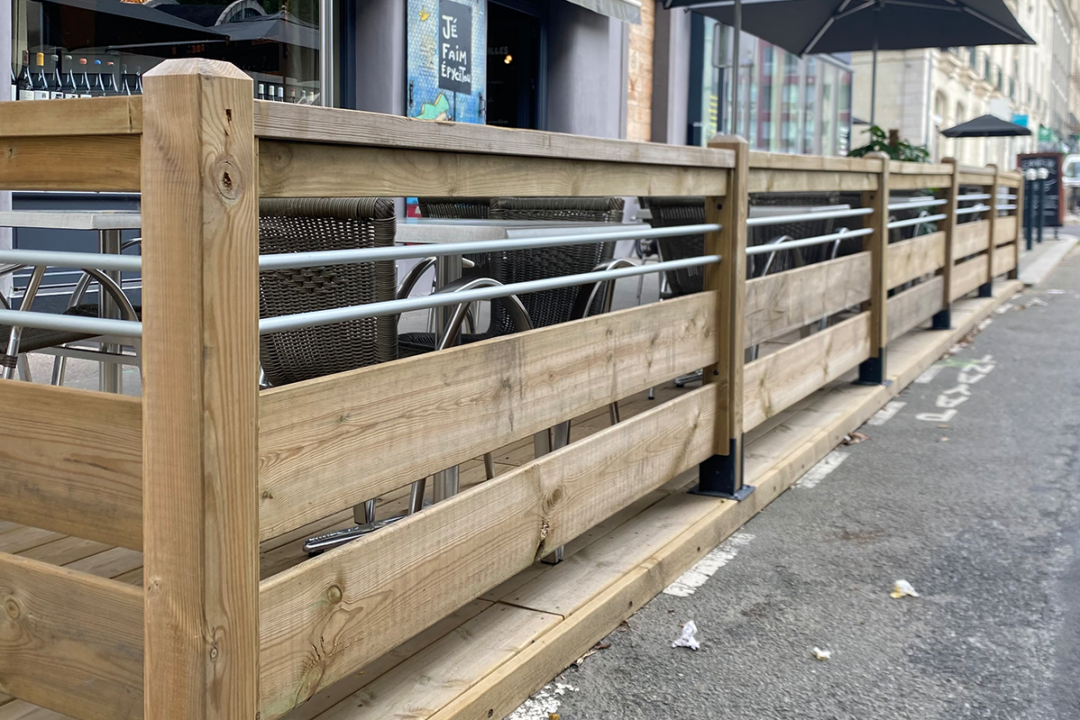
[[[252,80],[143,77],[147,720],[258,706],[258,175]]]

